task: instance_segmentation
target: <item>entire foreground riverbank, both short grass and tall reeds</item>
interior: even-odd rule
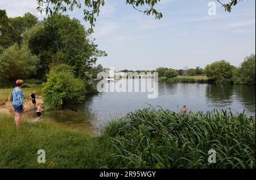
[[[147,108],[109,123],[100,136],[0,114],[0,168],[255,168],[255,116],[188,115]],[[46,163],[37,162],[38,150]],[[216,150],[217,163],[208,163]]]

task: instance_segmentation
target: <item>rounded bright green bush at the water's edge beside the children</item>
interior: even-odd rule
[[[49,72],[43,88],[44,98],[48,101],[47,110],[60,108],[60,104],[81,103],[84,99],[84,82],[75,77],[72,67],[67,68],[67,65],[61,64]],[[54,102],[49,102],[52,99]]]

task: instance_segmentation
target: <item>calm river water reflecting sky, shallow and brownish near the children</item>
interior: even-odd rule
[[[138,81],[141,85],[140,79],[128,81]],[[136,86],[135,84],[133,85]],[[83,104],[65,106],[59,111],[43,112],[43,119],[97,135],[110,120],[150,106],[181,111],[183,105],[186,105],[188,111],[203,112],[212,111],[214,108],[230,108],[233,112],[245,110],[247,115],[255,116],[255,86],[159,82],[157,95],[157,98],[149,99],[148,93],[102,92],[86,99]],[[71,108],[77,108],[77,112],[71,111]],[[30,112],[27,116],[33,119],[36,114]]]

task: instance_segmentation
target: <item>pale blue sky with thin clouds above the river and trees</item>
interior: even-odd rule
[[[134,10],[125,0],[105,2],[92,35],[98,48],[108,53],[97,61],[104,68],[204,68],[218,60],[239,66],[246,56],[255,54],[254,0],[243,0],[231,13],[217,0],[162,0],[155,7],[163,13],[160,20]],[[216,15],[208,14],[209,2],[216,2]],[[0,0],[0,9],[10,17],[31,12],[43,19],[37,6],[36,0]],[[81,9],[66,14],[89,27]]]

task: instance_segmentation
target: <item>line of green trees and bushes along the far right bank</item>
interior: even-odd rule
[[[237,68],[225,60],[208,64],[204,69],[157,68],[160,81],[167,82],[211,82],[225,84],[255,85],[255,55],[245,58]],[[178,76],[182,76],[177,78]],[[207,76],[209,79],[193,79],[185,76]]]

